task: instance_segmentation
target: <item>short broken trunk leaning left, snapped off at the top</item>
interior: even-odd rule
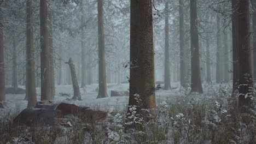
[[[78,81],[77,81],[77,75],[75,74],[75,68],[74,68],[74,63],[73,63],[72,58],[69,58],[69,61],[66,63],[69,65],[70,72],[71,72],[71,80],[72,80],[72,85],[73,85],[73,90],[74,90],[74,95],[73,95],[72,99],[82,100]]]

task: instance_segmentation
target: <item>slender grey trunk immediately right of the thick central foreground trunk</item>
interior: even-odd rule
[[[170,56],[169,56],[169,11],[168,1],[165,3],[165,90],[171,89]]]

